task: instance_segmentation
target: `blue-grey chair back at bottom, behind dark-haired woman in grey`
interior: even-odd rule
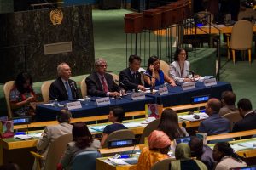
[[[100,157],[101,154],[96,150],[88,150],[79,153],[73,159],[73,170],[95,170],[96,169],[96,158]]]

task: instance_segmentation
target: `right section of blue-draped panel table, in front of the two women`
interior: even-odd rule
[[[195,88],[191,90],[183,91],[181,86],[176,86],[169,87],[168,94],[164,94],[161,96],[158,93],[146,95],[154,98],[154,103],[163,104],[164,107],[167,107],[172,105],[189,104],[192,97],[207,94],[209,94],[211,98],[221,99],[222,92],[227,90],[232,91],[232,87],[229,82],[217,82],[217,85],[211,87],[205,87],[203,82],[196,82]]]

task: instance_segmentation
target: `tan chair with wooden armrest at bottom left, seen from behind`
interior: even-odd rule
[[[61,156],[64,154],[64,151],[67,148],[67,144],[73,140],[72,134],[64,134],[59,138],[55,139],[53,143],[49,145],[49,150],[45,159],[45,164],[43,169],[56,169],[57,164],[61,160]],[[33,151],[30,152],[32,156],[36,159],[36,169],[41,170],[40,159],[43,159],[44,156],[39,155]]]

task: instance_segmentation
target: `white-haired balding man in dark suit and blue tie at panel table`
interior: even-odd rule
[[[49,87],[49,99],[58,101],[79,99],[77,84],[71,77],[71,70],[67,63],[61,63],[57,67],[59,77]]]

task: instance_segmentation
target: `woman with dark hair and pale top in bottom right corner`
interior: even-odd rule
[[[246,162],[230,147],[229,143],[219,142],[215,144],[212,153],[213,159],[217,161],[215,170],[229,170],[234,167],[246,167]]]

